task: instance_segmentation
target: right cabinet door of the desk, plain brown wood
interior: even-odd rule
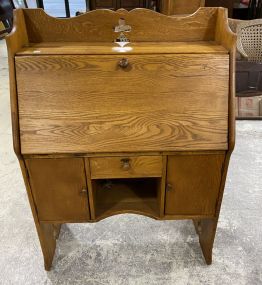
[[[224,154],[168,157],[165,213],[214,215]]]

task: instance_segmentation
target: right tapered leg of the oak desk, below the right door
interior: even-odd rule
[[[196,232],[199,236],[199,243],[208,265],[212,263],[212,249],[216,235],[217,222],[217,218],[193,220]]]

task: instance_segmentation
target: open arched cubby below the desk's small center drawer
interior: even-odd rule
[[[93,180],[95,215],[143,213],[159,216],[161,178]]]

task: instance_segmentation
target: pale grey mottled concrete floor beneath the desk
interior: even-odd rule
[[[237,142],[207,266],[190,221],[120,215],[62,227],[45,272],[12,150],[8,67],[0,41],[0,284],[262,284],[262,122],[237,122]]]

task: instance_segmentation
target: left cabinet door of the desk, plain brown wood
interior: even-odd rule
[[[40,221],[89,219],[84,159],[27,159]]]

